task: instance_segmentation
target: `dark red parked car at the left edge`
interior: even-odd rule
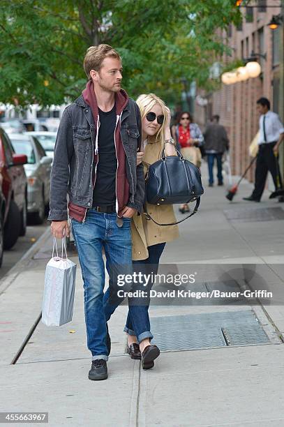
[[[0,174],[5,206],[1,215],[3,218],[4,249],[12,248],[17,238],[24,236],[27,229],[27,177],[24,164],[27,156],[17,154],[13,149],[8,135],[0,128]]]

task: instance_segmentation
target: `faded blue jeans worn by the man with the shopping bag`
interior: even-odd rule
[[[123,299],[110,301],[111,291],[116,286],[113,271],[117,269],[119,273],[124,274],[133,272],[131,220],[124,218],[122,227],[118,227],[116,220],[116,213],[99,213],[94,209],[87,211],[84,223],[73,218],[71,220],[84,281],[87,345],[93,360],[108,359],[105,345],[106,322],[123,301]],[[103,248],[107,260],[107,273],[110,276],[109,287],[105,294],[103,294],[105,287]]]

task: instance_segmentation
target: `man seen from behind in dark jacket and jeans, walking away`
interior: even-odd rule
[[[218,114],[213,116],[211,123],[207,126],[204,133],[204,150],[207,154],[209,187],[213,187],[214,185],[213,168],[215,159],[217,162],[218,186],[223,186],[222,156],[229,149],[227,132],[224,126],[219,124],[219,120],[220,117]]]

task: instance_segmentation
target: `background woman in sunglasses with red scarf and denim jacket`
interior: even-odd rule
[[[199,126],[193,123],[193,117],[189,112],[182,112],[179,124],[172,129],[177,149],[181,154],[197,167],[201,166],[200,148],[204,142],[203,135]],[[189,212],[188,204],[181,204],[179,207],[181,213]]]

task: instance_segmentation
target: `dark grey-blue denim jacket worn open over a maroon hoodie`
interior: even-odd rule
[[[128,207],[143,210],[144,174],[136,165],[137,147],[141,146],[140,110],[128,100],[121,113],[121,141],[126,154],[126,178],[130,197]],[[50,183],[49,220],[67,220],[67,194],[70,203],[89,209],[93,204],[93,168],[96,126],[91,108],[83,96],[63,112],[54,149]]]

